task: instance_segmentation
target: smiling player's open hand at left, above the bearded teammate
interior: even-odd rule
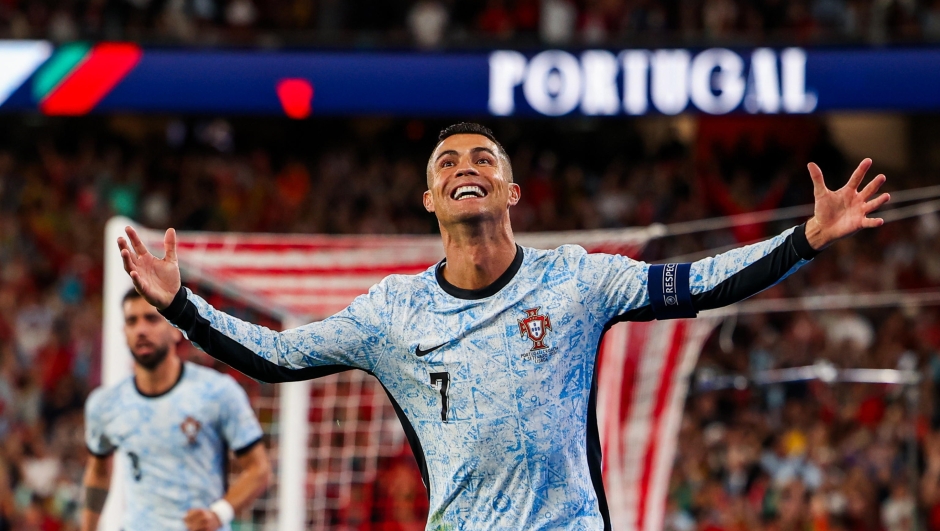
[[[118,238],[124,270],[147,302],[159,310],[166,308],[173,302],[181,285],[180,266],[176,260],[176,231],[167,229],[163,236],[163,258],[150,254],[133,227],[126,227],[124,232],[130,240],[128,245],[127,240]]]

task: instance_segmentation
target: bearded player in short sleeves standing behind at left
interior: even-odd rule
[[[228,530],[271,472],[248,396],[231,376],[180,360],[179,331],[136,290],[123,306],[134,375],[85,404],[81,529],[98,526],[119,451],[129,465],[123,531]],[[226,490],[230,449],[240,473]]]

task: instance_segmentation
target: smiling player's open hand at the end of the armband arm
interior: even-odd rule
[[[870,218],[869,214],[891,199],[888,194],[881,194],[872,199],[885,182],[884,175],[878,175],[862,191],[858,190],[865,173],[871,167],[871,159],[865,159],[855,168],[849,182],[838,190],[826,188],[819,166],[809,163],[809,176],[813,179],[813,195],[816,198],[813,217],[806,222],[806,239],[813,249],[822,249],[839,238],[855,234],[861,229],[880,227],[881,218]]]

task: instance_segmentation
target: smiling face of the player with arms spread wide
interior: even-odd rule
[[[506,181],[509,168],[496,144],[482,135],[446,138],[431,157],[431,189],[424,207],[442,224],[505,216],[519,202],[519,185]]]

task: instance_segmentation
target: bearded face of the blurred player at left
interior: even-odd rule
[[[147,370],[163,363],[180,339],[179,331],[142,298],[124,303],[124,335],[134,361]]]

